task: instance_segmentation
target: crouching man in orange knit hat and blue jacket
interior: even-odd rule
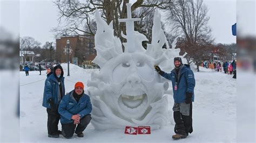
[[[91,120],[92,104],[90,97],[84,94],[82,82],[77,82],[75,90],[63,97],[58,111],[62,123],[62,135],[69,139],[75,132],[77,137],[84,137],[83,131]]]

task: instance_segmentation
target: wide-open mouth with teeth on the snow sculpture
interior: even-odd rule
[[[137,112],[145,108],[147,105],[147,95],[125,95],[122,94],[118,98],[120,108],[126,112]]]

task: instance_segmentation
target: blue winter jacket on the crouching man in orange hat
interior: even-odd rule
[[[73,122],[73,115],[81,115],[80,118],[83,118],[85,115],[89,115],[92,111],[92,104],[90,97],[86,94],[83,94],[80,97],[78,103],[73,96],[72,90],[69,94],[65,95],[59,103],[58,112],[60,114],[60,123],[69,124]]]

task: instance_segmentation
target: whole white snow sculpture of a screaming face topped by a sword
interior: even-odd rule
[[[176,39],[169,48],[161,29],[160,13],[154,13],[152,42],[147,50],[142,41],[145,35],[134,31],[131,4],[127,4],[127,39],[122,43],[113,35],[112,22],[107,25],[96,11],[97,32],[95,48],[97,56],[93,62],[100,66],[99,73],[93,72],[87,82],[93,110],[91,123],[97,130],[124,128],[124,126],[151,126],[160,128],[168,121],[168,102],[165,91],[169,83],[155,71],[154,65],[163,70],[173,68],[173,58],[179,56]],[[167,49],[163,49],[166,44]],[[183,55],[185,56],[185,55]],[[180,56],[183,58],[183,56]],[[185,61],[185,60],[184,60]]]

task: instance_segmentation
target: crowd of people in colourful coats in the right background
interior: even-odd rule
[[[237,78],[237,62],[235,60],[233,60],[232,62],[228,62],[228,61],[208,62],[208,61],[205,61],[202,63],[201,66],[205,67],[205,68],[214,69],[219,72],[224,71],[225,74],[234,75],[233,78]]]

